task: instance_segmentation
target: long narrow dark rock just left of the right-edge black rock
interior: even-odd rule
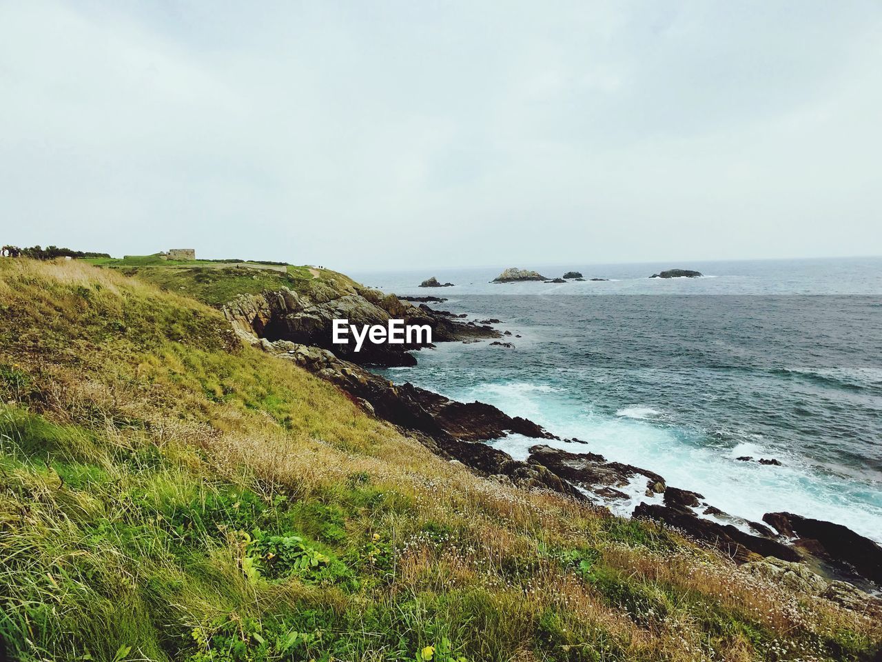
[[[670,489],[669,487],[668,490]],[[751,536],[732,524],[720,524],[703,519],[688,508],[669,508],[659,504],[641,503],[634,508],[633,516],[654,519],[682,530],[691,538],[713,545],[738,562],[755,560],[755,554],[774,556],[781,560],[800,558],[795,550],[776,540]]]

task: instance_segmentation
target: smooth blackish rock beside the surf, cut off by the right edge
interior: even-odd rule
[[[771,524],[783,536],[817,541],[829,560],[848,564],[863,577],[882,583],[882,547],[870,538],[864,538],[842,524],[793,513],[766,513],[763,522]]]

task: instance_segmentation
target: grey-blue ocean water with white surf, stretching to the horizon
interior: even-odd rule
[[[882,259],[522,267],[614,280],[490,284],[502,267],[356,274],[502,320],[515,345],[442,343],[415,367],[378,372],[531,418],[587,441],[553,445],[654,470],[732,515],[786,510],[882,542]],[[708,276],[647,278],[669,267]],[[457,286],[415,287],[430,275]],[[523,458],[536,440],[489,443]],[[645,498],[635,489],[617,512]]]

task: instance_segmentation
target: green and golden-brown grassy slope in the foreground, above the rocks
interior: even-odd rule
[[[870,616],[475,478],[219,312],[0,260],[0,635],[25,660],[871,659]]]

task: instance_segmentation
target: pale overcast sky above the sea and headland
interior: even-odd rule
[[[882,3],[0,0],[0,243],[882,254]]]

